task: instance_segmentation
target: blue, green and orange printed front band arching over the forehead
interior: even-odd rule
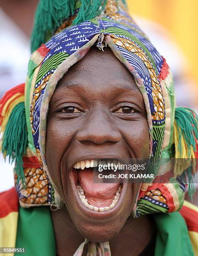
[[[128,68],[131,69],[133,67],[133,70],[130,71],[133,72],[138,86],[140,88],[142,87],[142,92],[146,93],[145,97],[147,97],[150,108],[150,110],[148,110],[152,118],[150,121],[153,122],[153,125],[150,122],[150,129],[151,131],[154,130],[153,145],[155,145],[152,147],[153,151],[151,151],[150,154],[153,155],[155,159],[158,159],[165,129],[165,107],[162,89],[158,79],[158,74],[163,64],[163,58],[141,34],[123,25],[118,25],[114,23],[114,21],[103,20],[103,18],[98,20],[97,24],[95,24],[95,20],[94,22],[87,21],[80,25],[73,26],[70,29],[65,29],[45,44],[50,51],[41,64],[30,108],[30,120],[35,148],[40,151],[40,108],[43,103],[45,87],[51,75],[63,60],[67,59],[67,61],[69,61],[68,57],[76,53],[78,49],[86,45],[88,50],[90,45],[89,43],[87,44],[87,42],[90,42],[95,35],[99,36],[101,33],[110,36],[107,44],[111,44],[111,41],[113,41],[112,43],[115,44],[114,48],[117,46],[115,50],[123,55],[122,58],[125,58],[123,61],[127,61],[125,63],[126,65],[130,64]],[[53,61],[54,59],[56,62]],[[65,63],[67,61],[65,61]],[[60,69],[60,67],[58,69]],[[62,71],[62,75],[64,73],[65,70]],[[53,79],[51,79],[51,81],[52,80]],[[52,82],[50,84],[52,84]]]

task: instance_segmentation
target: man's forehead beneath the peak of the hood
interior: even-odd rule
[[[58,82],[56,90],[68,87],[92,87],[98,89],[125,89],[140,93],[135,84],[133,75],[116,58],[110,48],[105,48],[104,52],[95,46],[76,64],[74,64],[63,78]]]

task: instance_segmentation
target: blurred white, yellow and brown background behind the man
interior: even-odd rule
[[[127,2],[135,21],[172,69],[177,105],[198,113],[198,1]],[[0,0],[0,97],[25,82],[37,3],[38,0]],[[0,192],[13,187],[12,169],[0,155]]]

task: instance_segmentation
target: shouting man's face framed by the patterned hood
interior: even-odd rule
[[[148,155],[147,115],[133,76],[110,49],[93,47],[58,83],[46,137],[50,176],[83,237],[95,242],[112,239],[135,200],[135,184],[94,184],[91,160]],[[80,198],[77,186],[85,197]],[[112,202],[115,206],[105,208]]]

